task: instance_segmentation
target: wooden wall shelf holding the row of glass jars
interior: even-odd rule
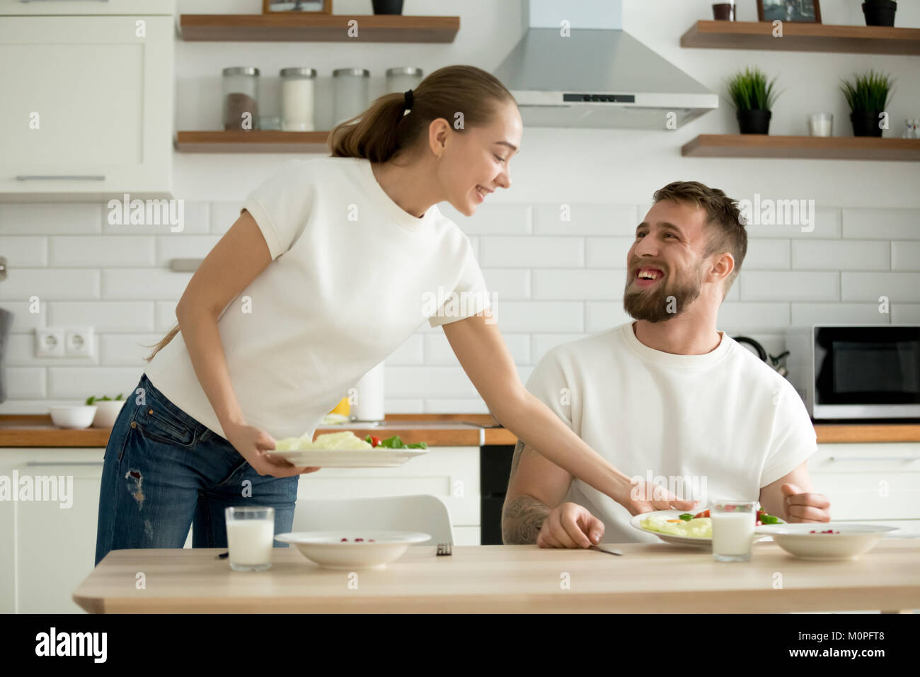
[[[179,153],[328,153],[328,132],[177,132]]]

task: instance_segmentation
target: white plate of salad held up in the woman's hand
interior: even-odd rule
[[[296,466],[314,468],[396,468],[410,459],[428,453],[425,442],[406,444],[398,435],[359,438],[350,430],[275,441],[268,454],[281,456]]]

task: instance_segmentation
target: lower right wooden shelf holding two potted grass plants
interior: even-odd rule
[[[700,134],[681,148],[685,158],[809,158],[920,161],[920,139],[868,136]]]

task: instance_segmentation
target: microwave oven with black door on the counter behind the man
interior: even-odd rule
[[[920,324],[789,327],[786,348],[812,419],[920,419]]]

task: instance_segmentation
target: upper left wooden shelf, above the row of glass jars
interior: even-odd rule
[[[351,19],[358,22],[356,38],[348,35]],[[184,41],[453,42],[459,29],[459,17],[288,12],[179,16]]]

